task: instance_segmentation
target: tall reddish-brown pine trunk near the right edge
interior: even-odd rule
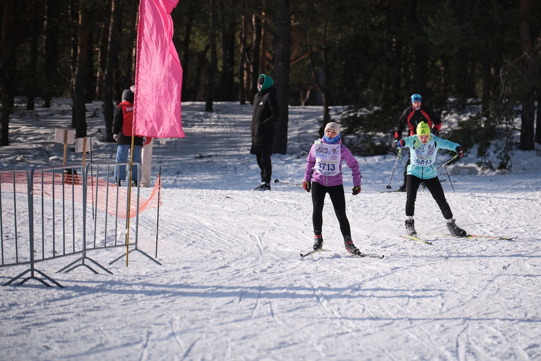
[[[520,0],[519,15],[522,21],[519,23],[520,45],[524,52],[532,50],[530,40],[530,25],[528,17],[531,11],[530,0]],[[530,56],[525,56],[522,62],[522,75],[524,77],[525,89],[522,102],[522,125],[520,127],[520,150],[533,150],[533,119],[535,116],[535,90],[533,88],[533,64]]]

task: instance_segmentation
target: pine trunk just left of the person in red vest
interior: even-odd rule
[[[105,134],[108,142],[113,139],[113,73],[116,63],[116,45],[118,38],[117,20],[120,14],[120,0],[111,0],[111,21],[109,22],[109,39],[107,42],[107,59],[103,75],[103,115],[105,118]]]

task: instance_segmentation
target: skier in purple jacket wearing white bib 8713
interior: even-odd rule
[[[331,196],[334,213],[337,215],[340,224],[340,231],[344,236],[346,250],[356,255],[361,254],[359,248],[355,247],[351,240],[351,228],[346,216],[346,199],[344,186],[342,185],[342,161],[352,170],[353,189],[352,194],[361,192],[361,173],[359,162],[351,154],[349,149],[342,144],[340,139],[340,126],[331,122],[325,126],[325,135],[316,140],[310,149],[306,159],[306,170],[302,187],[306,192],[312,191],[312,224],[314,225],[314,250],[323,246],[321,228],[323,225],[323,206],[325,194]],[[315,170],[315,172],[314,172]]]

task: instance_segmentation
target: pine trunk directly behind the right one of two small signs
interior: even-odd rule
[[[79,4],[79,26],[77,35],[77,63],[74,74],[73,109],[75,114],[75,137],[87,136],[87,109],[84,104],[84,80],[87,70],[88,9]]]

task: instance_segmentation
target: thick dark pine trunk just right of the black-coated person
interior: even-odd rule
[[[289,103],[289,43],[291,41],[291,18],[289,0],[279,0],[276,4],[275,18],[275,49],[274,49],[274,80],[278,95],[280,118],[276,123],[274,138],[274,153],[287,153],[287,122]]]

